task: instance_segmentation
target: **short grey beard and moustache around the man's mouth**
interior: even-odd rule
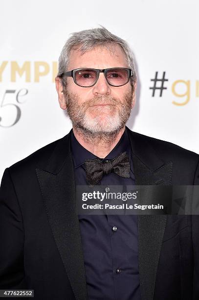
[[[93,145],[107,145],[113,143],[119,131],[125,127],[132,108],[133,89],[124,96],[124,102],[117,100],[111,96],[96,96],[92,99],[78,104],[78,96],[64,91],[64,96],[67,104],[67,115],[72,121],[73,128],[81,135],[85,142]],[[107,120],[106,125],[102,125],[100,114],[94,118],[86,116],[87,109],[97,103],[109,103],[117,107],[116,116],[110,116],[110,122]],[[110,109],[111,105],[110,105]],[[100,112],[100,108],[99,108]],[[108,117],[107,117],[108,118]]]

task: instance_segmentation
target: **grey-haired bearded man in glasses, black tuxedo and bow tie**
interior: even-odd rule
[[[76,212],[76,185],[199,184],[198,154],[125,127],[135,88],[124,40],[102,27],[66,42],[56,89],[73,128],[4,171],[1,289],[53,300],[199,299],[198,216]]]

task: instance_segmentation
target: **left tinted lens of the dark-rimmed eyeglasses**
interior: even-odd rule
[[[77,84],[88,87],[95,83],[97,79],[96,71],[92,69],[80,69],[75,72],[75,81]]]

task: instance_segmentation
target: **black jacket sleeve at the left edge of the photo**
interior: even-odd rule
[[[6,168],[0,185],[0,289],[26,288],[23,244],[22,214],[9,169]]]

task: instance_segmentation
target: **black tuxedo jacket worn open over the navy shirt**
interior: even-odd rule
[[[136,185],[199,185],[199,155],[128,129]],[[86,300],[71,131],[6,168],[0,188],[0,289]],[[138,216],[142,300],[199,299],[199,216]]]

